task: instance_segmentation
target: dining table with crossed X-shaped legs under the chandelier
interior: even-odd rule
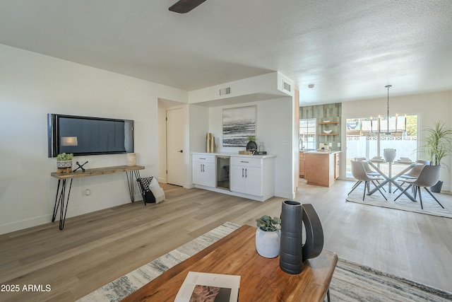
[[[398,190],[403,191],[403,187],[397,182],[397,179],[400,178],[401,175],[407,173],[409,170],[414,168],[416,165],[422,165],[422,163],[416,163],[416,162],[405,162],[405,161],[375,161],[375,160],[369,160],[367,161],[369,165],[378,172],[382,178],[384,178],[383,182],[380,182],[378,185],[378,188],[374,188],[374,190],[371,190],[369,192],[369,195],[374,194],[376,190],[383,187],[383,185],[388,184],[388,192],[392,193],[392,185],[394,185]],[[384,173],[380,169],[380,165],[388,165],[388,173]],[[393,165],[402,165],[403,169],[397,173],[396,175],[393,175]],[[405,192],[405,196],[407,196],[412,202],[416,202],[416,200],[407,192]]]

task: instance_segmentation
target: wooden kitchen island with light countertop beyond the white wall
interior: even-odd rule
[[[304,152],[304,179],[309,185],[330,187],[339,177],[340,151]]]

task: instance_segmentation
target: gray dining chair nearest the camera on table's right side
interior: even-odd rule
[[[444,209],[443,205],[434,197],[432,192],[428,189],[428,187],[432,187],[432,185],[436,185],[436,182],[439,180],[439,169],[441,168],[441,165],[424,165],[424,167],[421,170],[420,175],[415,180],[405,180],[406,183],[410,184],[408,187],[405,187],[405,190],[403,190],[400,195],[404,194],[410,187],[415,187],[415,192],[417,192],[417,195],[419,195],[419,200],[421,202],[421,209],[424,209],[424,205],[422,204],[422,195],[421,195],[421,187],[423,187],[430,196],[435,199],[435,201]],[[408,193],[406,193],[408,194]],[[398,199],[394,199],[396,201]]]

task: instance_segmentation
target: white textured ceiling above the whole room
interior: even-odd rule
[[[186,91],[280,71],[302,105],[452,90],[451,0],[174,2],[0,0],[0,43]]]

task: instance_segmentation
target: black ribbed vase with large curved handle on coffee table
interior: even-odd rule
[[[306,228],[304,245],[302,223]],[[299,274],[303,270],[303,261],[319,256],[322,249],[323,228],[314,207],[292,200],[283,202],[280,268],[288,274]]]

